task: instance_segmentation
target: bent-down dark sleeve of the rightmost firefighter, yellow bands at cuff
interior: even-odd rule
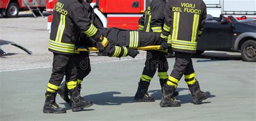
[[[171,42],[171,29],[172,29],[172,1],[168,1],[165,5],[164,9],[164,27],[163,31],[161,32],[161,38],[167,40],[170,43]]]

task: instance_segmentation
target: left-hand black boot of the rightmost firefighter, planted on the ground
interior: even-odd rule
[[[174,86],[168,86],[167,84],[164,84],[163,94],[160,101],[161,107],[180,106],[180,102],[176,101],[176,98],[173,97],[174,90],[175,90]]]

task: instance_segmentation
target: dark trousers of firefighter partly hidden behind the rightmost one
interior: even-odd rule
[[[145,67],[143,69],[142,77],[140,77],[140,82],[145,81],[150,83],[157,69],[160,84],[163,86],[167,81],[167,70],[169,69],[165,53],[159,51],[147,51]],[[143,84],[141,86],[143,87]],[[149,88],[148,86],[149,84],[146,84],[145,88]]]

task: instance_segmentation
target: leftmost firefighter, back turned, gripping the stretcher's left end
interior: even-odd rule
[[[82,1],[59,0],[53,9],[53,20],[49,40],[49,51],[53,52],[52,74],[45,93],[44,113],[65,113],[55,102],[56,90],[65,75],[66,85],[71,97],[72,111],[80,111],[92,105],[80,96],[77,88],[77,68],[73,62],[75,43],[80,31],[87,34],[101,46],[106,47],[108,40],[85,16]]]

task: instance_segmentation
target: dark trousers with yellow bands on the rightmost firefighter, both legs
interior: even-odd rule
[[[193,84],[196,82],[193,63],[191,60],[192,53],[175,51],[175,55],[175,63],[167,84],[177,88],[178,82],[183,75],[185,76],[187,84]]]

